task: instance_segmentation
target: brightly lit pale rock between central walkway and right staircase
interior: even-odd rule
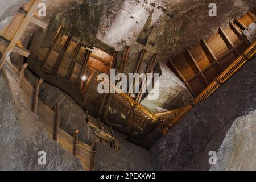
[[[167,67],[164,63],[159,63],[159,98],[150,100],[149,96],[144,98],[142,105],[148,109],[155,111],[156,107],[171,110],[180,107],[185,107],[193,100],[191,93],[189,93],[182,81]],[[154,92],[157,92],[154,87]]]

